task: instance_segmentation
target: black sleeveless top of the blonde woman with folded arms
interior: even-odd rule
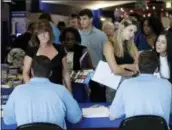
[[[124,47],[124,57],[117,57],[115,56],[117,64],[133,64],[134,59],[130,56],[126,47]]]

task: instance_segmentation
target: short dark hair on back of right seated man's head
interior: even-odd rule
[[[159,60],[156,52],[143,51],[139,55],[140,73],[153,74],[159,66]]]

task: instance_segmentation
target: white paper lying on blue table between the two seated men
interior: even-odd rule
[[[105,106],[82,108],[82,113],[86,118],[109,117],[109,109]]]

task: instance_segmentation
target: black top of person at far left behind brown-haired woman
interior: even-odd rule
[[[12,43],[12,48],[21,48],[26,52],[31,36],[32,34],[29,32],[25,32],[24,34],[18,36]]]

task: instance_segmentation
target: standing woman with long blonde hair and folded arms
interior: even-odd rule
[[[104,45],[104,56],[112,72],[123,77],[134,76],[138,72],[138,51],[134,44],[137,20],[127,17],[121,21],[115,37]],[[107,88],[107,101],[112,101],[115,92]]]

